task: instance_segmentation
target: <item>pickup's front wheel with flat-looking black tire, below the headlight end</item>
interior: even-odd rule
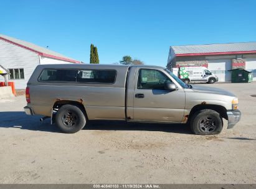
[[[222,117],[212,109],[202,109],[192,115],[189,121],[194,134],[219,134],[223,128]]]

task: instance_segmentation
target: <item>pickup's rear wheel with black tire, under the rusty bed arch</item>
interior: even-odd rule
[[[83,129],[86,118],[80,108],[66,104],[57,111],[55,122],[62,132],[75,133]]]

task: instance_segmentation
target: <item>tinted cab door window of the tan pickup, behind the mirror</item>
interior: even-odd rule
[[[164,90],[164,83],[172,81],[158,70],[140,69],[138,77],[138,89]]]

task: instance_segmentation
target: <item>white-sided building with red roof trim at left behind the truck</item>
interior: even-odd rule
[[[11,73],[17,90],[24,90],[34,69],[40,64],[80,63],[44,47],[0,34],[0,65]],[[0,76],[0,81],[4,77]]]

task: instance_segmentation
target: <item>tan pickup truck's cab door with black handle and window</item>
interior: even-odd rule
[[[184,89],[164,90],[164,83],[173,81],[162,70],[137,69],[133,96],[134,119],[181,122],[185,107]]]

